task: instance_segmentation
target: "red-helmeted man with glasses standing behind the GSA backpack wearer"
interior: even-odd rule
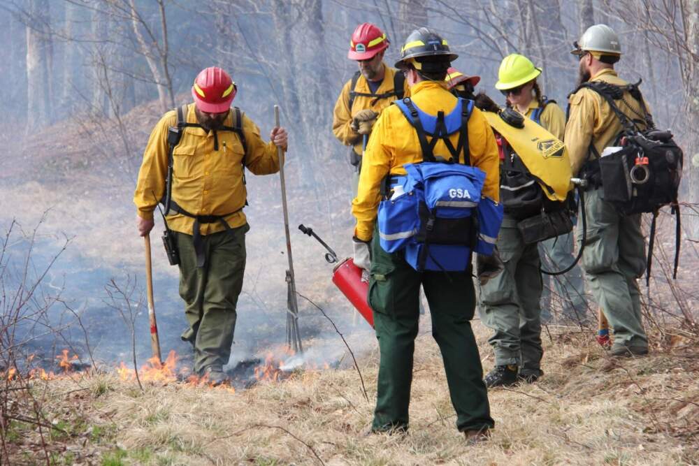
[[[356,167],[355,196],[363,146],[371,127],[391,101],[408,95],[403,73],[383,61],[389,43],[386,34],[374,24],[364,22],[356,27],[347,58],[357,62],[359,71],[345,83],[333,110],[333,133],[340,143],[351,147],[349,161]]]

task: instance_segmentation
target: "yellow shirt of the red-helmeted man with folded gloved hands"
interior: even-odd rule
[[[389,68],[384,64],[384,80],[381,85],[376,90],[374,94],[384,94],[386,92],[391,92],[394,90],[394,75],[400,73],[400,71]],[[391,105],[391,102],[396,100],[396,96],[387,97],[386,99],[375,99],[374,97],[367,96],[355,96],[354,103],[352,103],[352,112],[349,112],[349,92],[352,89],[349,87],[352,85],[352,80],[345,82],[342,92],[338,97],[338,101],[335,103],[335,110],[333,110],[333,133],[335,137],[340,140],[340,143],[344,145],[354,145],[354,152],[361,154],[361,134],[354,131],[349,127],[352,124],[352,118],[361,110],[374,110],[377,113],[381,113],[381,110],[387,108]],[[359,79],[356,80],[355,92],[361,92],[362,94],[371,94],[371,89],[366,82],[366,78],[363,75],[359,75]],[[405,93],[403,97],[410,96],[408,91],[408,83],[405,82],[403,85],[403,92]]]

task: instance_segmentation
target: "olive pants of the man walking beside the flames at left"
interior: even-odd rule
[[[177,233],[180,296],[189,328],[182,340],[194,347],[194,371],[221,370],[228,363],[236,328],[236,305],[243,289],[247,224],[202,236],[206,263],[196,266],[192,235]]]

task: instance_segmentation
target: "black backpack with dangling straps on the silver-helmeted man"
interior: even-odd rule
[[[656,217],[658,217],[658,210],[665,205],[672,205],[672,214],[675,214],[676,219],[673,277],[677,278],[682,228],[677,195],[679,182],[682,180],[684,154],[672,139],[672,132],[669,129],[661,131],[655,128],[638,85],[640,81],[626,86],[612,85],[607,82],[586,82],[578,89],[586,87],[600,94],[621,122],[622,129],[615,143],[617,147],[621,147],[621,150],[600,157],[594,145],[591,144],[590,152],[597,158],[586,162],[583,172],[591,178],[593,184],[602,187],[604,201],[612,204],[619,214],[653,214],[646,269],[646,284],[648,284],[653,259]],[[640,103],[643,115],[637,114],[637,118],[631,119],[619,110],[617,101],[623,102],[627,108],[630,108],[624,100],[624,92],[628,92]]]

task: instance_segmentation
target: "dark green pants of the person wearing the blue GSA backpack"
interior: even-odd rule
[[[408,428],[412,361],[419,323],[422,284],[431,310],[432,335],[442,352],[459,430],[491,428],[490,406],[470,320],[475,293],[466,272],[419,273],[403,252],[389,254],[375,231],[371,243],[369,304],[379,342],[380,365],[372,429]]]

